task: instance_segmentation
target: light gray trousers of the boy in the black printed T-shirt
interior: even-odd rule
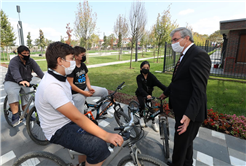
[[[98,86],[91,86],[92,89],[95,90],[95,93],[91,97],[105,97],[108,95],[108,90],[106,88],[98,87]],[[85,91],[89,91],[87,88]],[[77,93],[73,94],[73,102],[75,107],[84,114],[84,106],[85,100],[87,97],[84,95]]]

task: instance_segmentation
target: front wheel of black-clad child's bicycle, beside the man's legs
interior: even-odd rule
[[[169,158],[169,132],[168,132],[168,128],[166,125],[165,121],[161,121],[159,124],[160,127],[160,137],[162,140],[162,144],[163,144],[163,152],[164,152],[164,157],[166,159]]]

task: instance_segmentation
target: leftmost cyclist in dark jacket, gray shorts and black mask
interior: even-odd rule
[[[32,80],[32,71],[34,71],[39,78],[43,78],[44,73],[38,66],[35,60],[30,58],[30,50],[26,46],[19,46],[17,48],[18,56],[12,58],[9,62],[8,71],[5,75],[4,90],[8,95],[8,103],[12,111],[12,126],[15,127],[20,123],[20,115],[18,113],[19,93],[30,92],[29,82]],[[23,85],[23,86],[20,86]],[[28,97],[22,99],[22,109],[24,110]]]

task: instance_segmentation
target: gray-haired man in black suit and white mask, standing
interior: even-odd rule
[[[175,115],[175,135],[172,166],[191,166],[193,140],[207,118],[206,87],[211,60],[208,54],[193,42],[187,28],[177,28],[170,34],[172,48],[181,53],[170,85],[161,98],[169,97],[169,107]]]

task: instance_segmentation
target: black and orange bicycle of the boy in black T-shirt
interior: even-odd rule
[[[96,101],[96,104],[85,103],[87,109],[85,109],[84,114],[91,119],[94,123],[98,124],[97,120],[105,119],[103,115],[110,108],[114,109],[114,118],[119,126],[124,125],[128,122],[128,116],[124,113],[121,105],[117,103],[114,99],[114,94],[123,88],[125,82],[122,82],[111,94],[102,97],[100,100]],[[92,108],[92,109],[89,109]],[[96,117],[93,116],[93,111],[96,111]],[[136,126],[132,127],[131,137],[134,138],[138,135],[138,129]]]

